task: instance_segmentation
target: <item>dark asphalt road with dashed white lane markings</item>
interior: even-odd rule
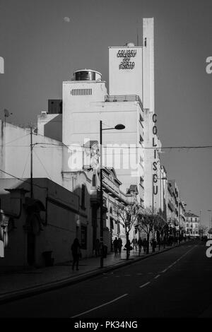
[[[212,258],[205,242],[76,285],[0,305],[0,317],[212,317]]]

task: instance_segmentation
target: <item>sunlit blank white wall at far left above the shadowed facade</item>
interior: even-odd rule
[[[36,134],[33,134],[33,144],[33,177],[49,177],[61,184],[64,147],[59,141]],[[4,147],[1,149],[1,160],[4,160],[1,170],[15,177],[30,177],[30,129],[8,123],[1,126],[0,146]],[[9,176],[1,171],[0,175]]]

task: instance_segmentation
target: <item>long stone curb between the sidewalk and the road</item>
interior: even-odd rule
[[[182,245],[183,244],[181,244],[181,246]],[[83,273],[81,275],[78,275],[76,277],[65,278],[65,279],[62,279],[62,280],[54,281],[52,283],[46,283],[46,284],[38,285],[38,286],[35,286],[35,287],[25,288],[23,290],[8,292],[5,295],[0,295],[0,304],[4,304],[6,302],[11,302],[11,301],[14,301],[14,300],[20,300],[20,299],[23,299],[23,298],[26,298],[26,297],[31,297],[33,295],[38,295],[38,294],[41,294],[41,293],[44,293],[44,292],[48,292],[50,290],[56,290],[56,289],[59,289],[61,287],[74,285],[76,283],[81,283],[81,281],[87,280],[88,278],[93,278],[96,275],[100,275],[100,274],[105,273],[105,272],[116,270],[117,268],[122,268],[124,266],[128,266],[128,265],[131,265],[133,263],[137,263],[138,261],[142,261],[143,259],[148,259],[151,256],[162,254],[165,251],[169,251],[171,249],[174,249],[176,247],[181,247],[181,246],[175,245],[173,247],[165,248],[165,249],[162,249],[160,251],[148,254],[146,256],[141,256],[141,257],[138,256],[137,258],[132,259],[131,261],[123,261],[122,263],[117,263],[117,264],[114,264],[114,265],[105,266],[103,268],[98,268],[98,269],[95,269],[93,271],[86,272],[86,273]]]

